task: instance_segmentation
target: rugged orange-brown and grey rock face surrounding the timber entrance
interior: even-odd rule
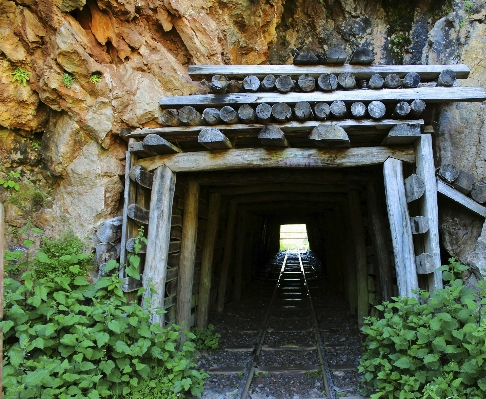
[[[430,0],[4,0],[0,178],[18,171],[39,191],[30,216],[48,234],[93,234],[120,213],[118,133],[160,126],[160,97],[203,89],[189,64],[289,64],[292,54],[322,59],[336,48],[349,62],[364,47],[378,64],[462,62],[471,68],[465,84],[486,87],[485,9],[486,0],[467,9]],[[16,71],[25,84],[12,81]],[[444,106],[434,128],[436,166],[486,177],[483,104]],[[449,203],[441,209],[446,251],[484,267],[482,222],[460,222]],[[29,213],[12,204],[9,215],[22,224]]]

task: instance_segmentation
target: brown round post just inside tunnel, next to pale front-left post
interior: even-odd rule
[[[182,217],[181,257],[177,279],[176,321],[185,328],[191,327],[191,299],[196,263],[196,239],[199,208],[199,184],[195,180],[187,183]]]

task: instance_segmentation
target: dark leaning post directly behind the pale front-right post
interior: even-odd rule
[[[383,301],[389,301],[392,297],[392,264],[388,256],[387,226],[381,206],[383,201],[377,195],[377,184],[369,181],[366,186],[368,195],[368,213],[370,214],[370,227],[375,250],[375,259],[378,263],[378,275],[380,279],[380,290]],[[385,235],[386,234],[386,235]]]

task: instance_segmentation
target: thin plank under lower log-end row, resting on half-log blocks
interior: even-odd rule
[[[387,130],[391,129],[396,125],[416,123],[419,125],[424,125],[423,119],[417,120],[397,120],[397,119],[342,119],[335,121],[306,121],[298,122],[291,121],[286,123],[281,123],[278,125],[279,129],[284,133],[295,133],[295,132],[310,132],[313,128],[318,125],[336,125],[342,127],[345,130],[361,130],[361,129],[376,129],[376,130]],[[252,133],[258,134],[266,125],[259,123],[250,124],[234,124],[234,125],[213,125],[212,127],[220,130],[221,132],[232,132],[236,131],[238,133]],[[164,138],[180,139],[181,137],[196,137],[201,131],[201,126],[177,126],[177,127],[161,127],[161,128],[144,128],[134,130],[129,133],[126,137],[145,137],[148,134],[159,134]]]

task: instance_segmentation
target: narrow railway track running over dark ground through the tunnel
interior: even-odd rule
[[[343,363],[339,358],[340,348],[346,349],[349,343],[340,342],[339,329],[333,330],[333,324],[336,321],[340,324],[342,316],[339,311],[336,313],[339,307],[333,306],[327,295],[322,295],[322,281],[316,279],[316,260],[308,252],[287,251],[281,252],[274,264],[278,267],[267,271],[267,287],[260,291],[263,295],[266,290],[267,296],[258,298],[265,306],[255,309],[254,320],[249,312],[246,313],[246,318],[245,314],[239,315],[242,325],[246,325],[249,330],[230,332],[237,338],[238,333],[251,333],[255,331],[251,329],[258,325],[258,334],[254,335],[253,345],[246,341],[241,345],[224,348],[227,352],[240,352],[239,364],[214,367],[209,369],[209,373],[241,377],[238,391],[235,392],[235,397],[239,399],[249,399],[252,397],[249,393],[259,392],[262,377],[269,375],[279,375],[282,378],[304,376],[319,381],[316,382],[319,384],[318,395],[299,396],[300,399],[357,398],[348,395],[348,392],[354,395],[356,390],[343,386],[342,378],[340,380],[345,373],[356,373],[356,359],[354,362]],[[308,281],[309,277],[311,281]],[[274,285],[273,291],[268,288],[271,282]],[[272,292],[271,296],[268,295],[269,291]],[[233,312],[230,317],[235,315],[236,312]],[[330,316],[337,317],[338,320],[333,320]],[[349,327],[347,321],[343,322]],[[326,323],[329,323],[329,327],[323,327]],[[321,333],[326,334],[326,342],[323,341]],[[336,335],[334,340],[329,339],[333,333]],[[354,344],[359,343],[355,341]],[[338,377],[337,385],[333,375]],[[356,379],[356,376],[353,378]]]

